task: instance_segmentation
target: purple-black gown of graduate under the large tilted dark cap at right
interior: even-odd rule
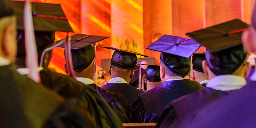
[[[230,94],[232,91],[220,91],[205,87],[194,93],[185,95],[177,100],[173,100],[165,106],[163,114],[157,121],[157,128],[172,128],[187,118],[188,115],[195,114],[211,102]]]

